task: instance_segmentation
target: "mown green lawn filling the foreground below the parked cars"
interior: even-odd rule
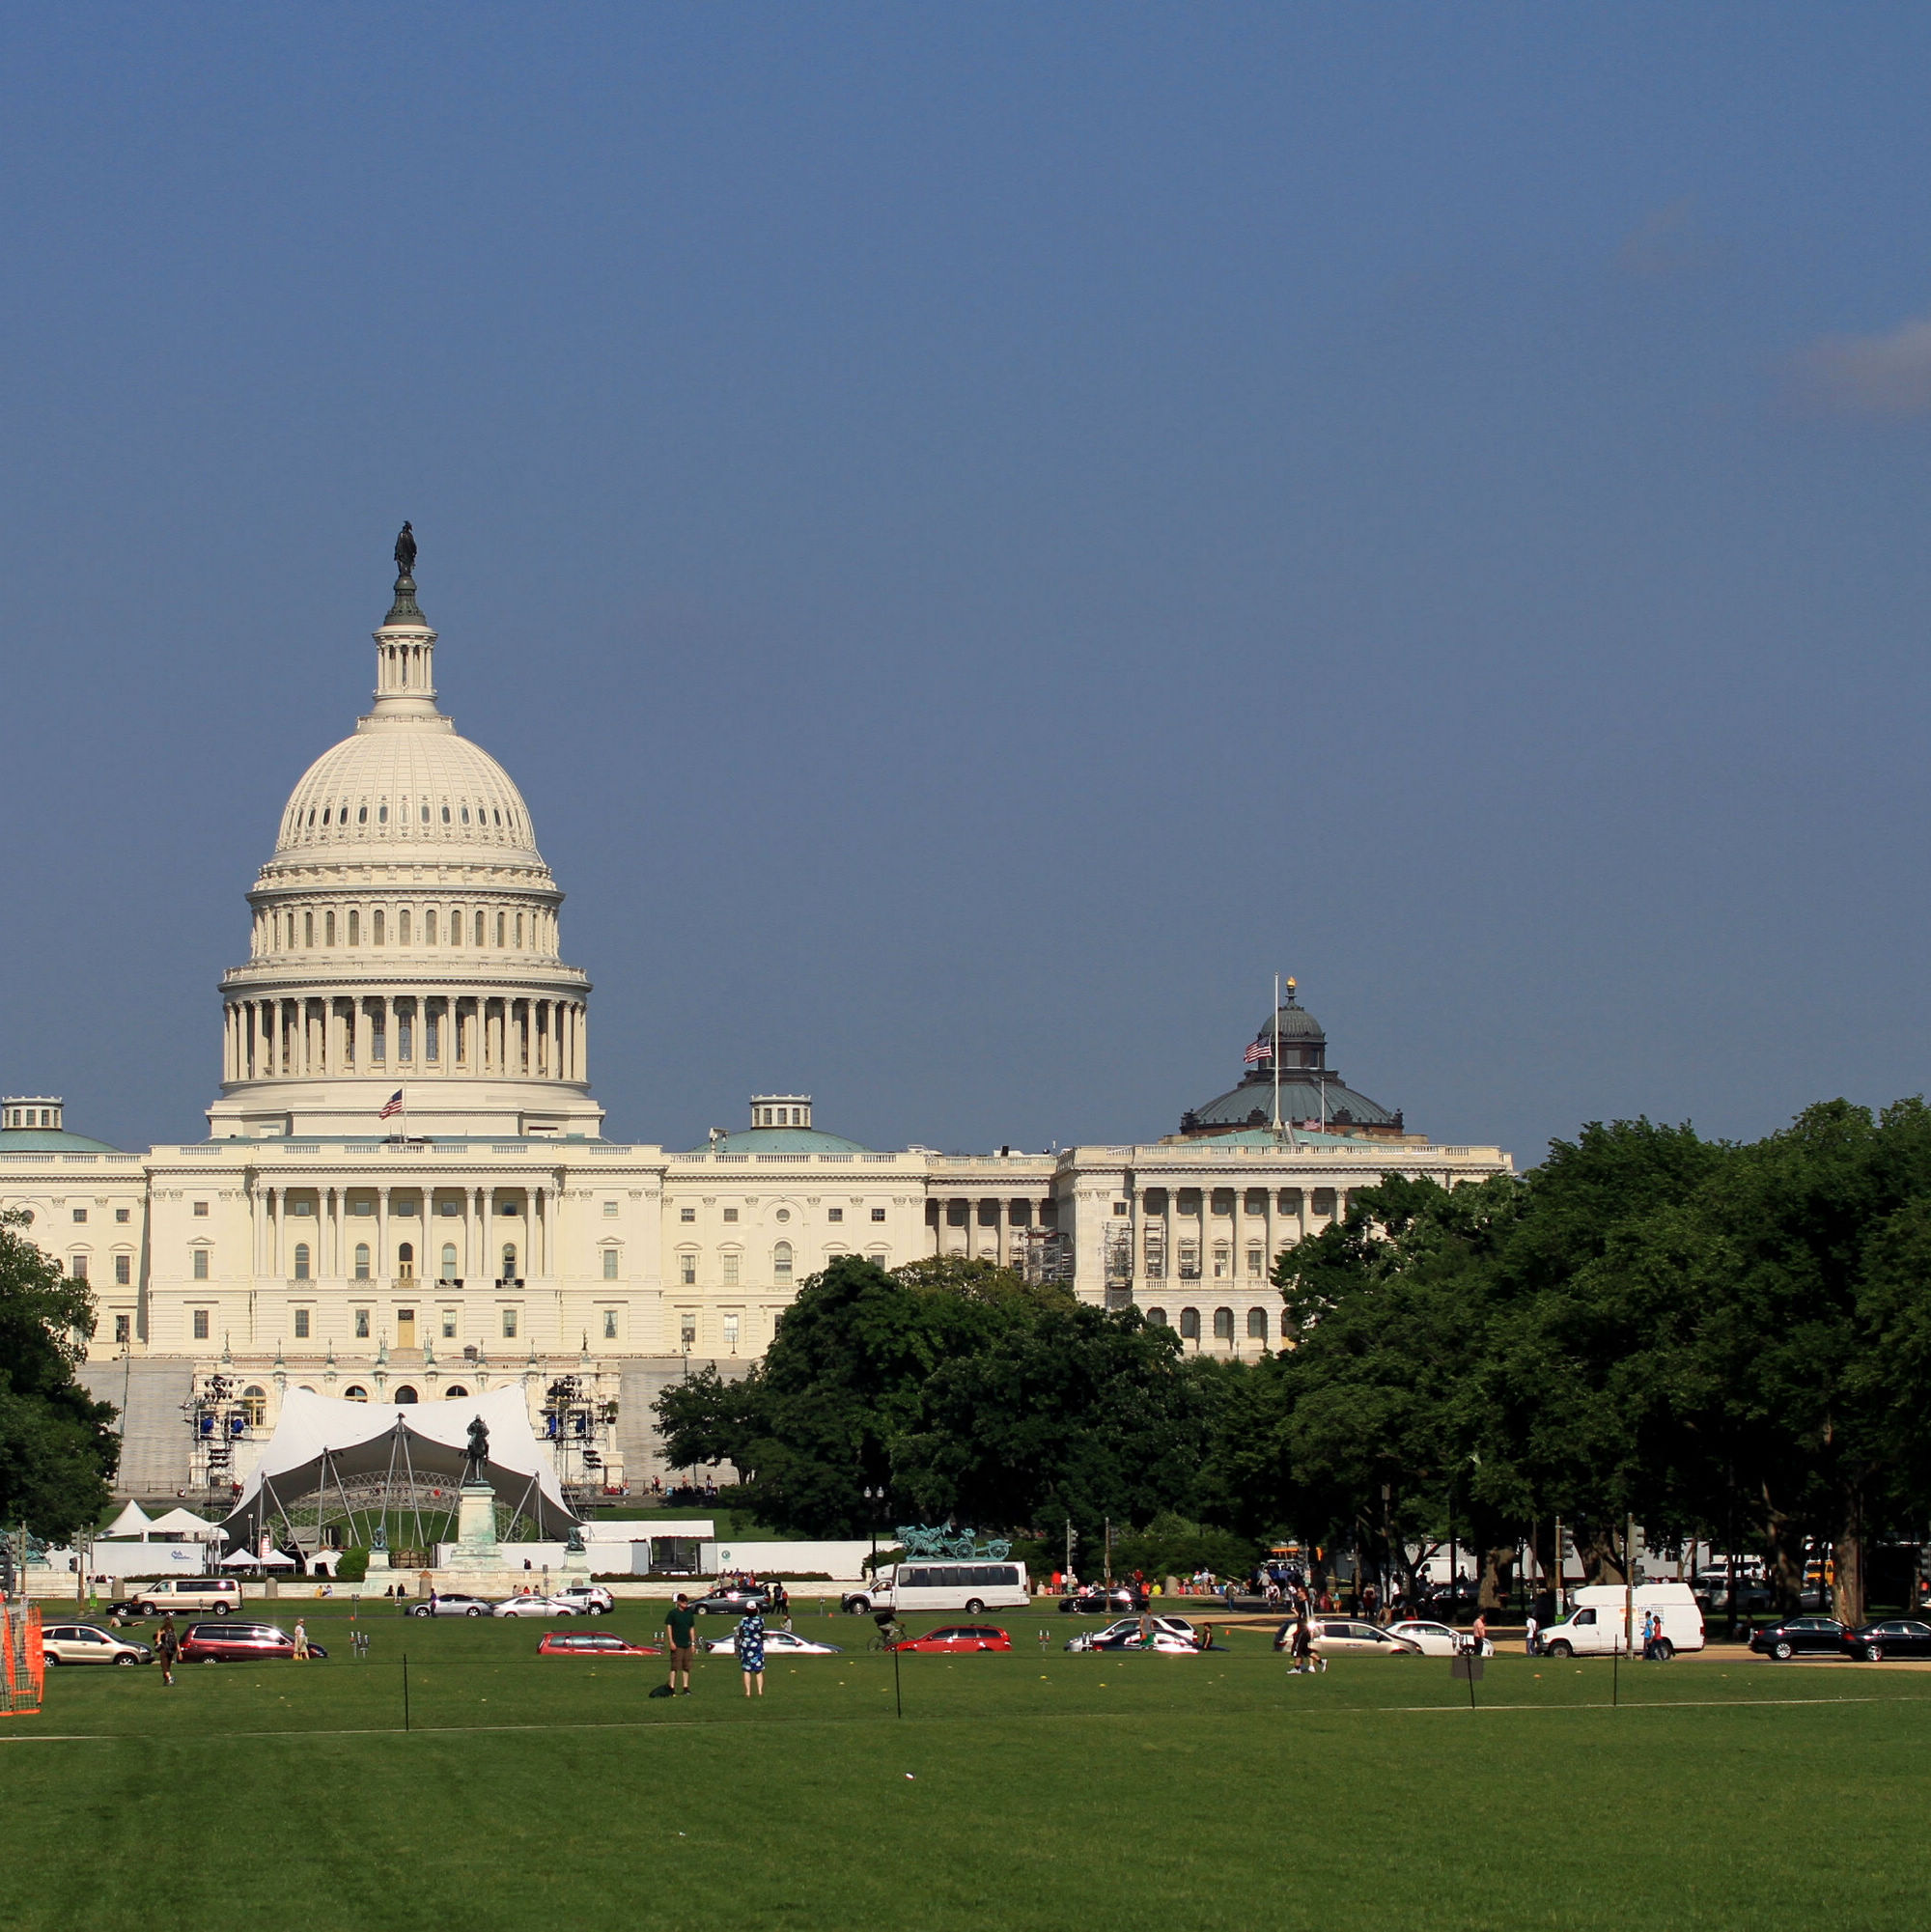
[[[6,1922],[1917,1924],[1931,1673],[1709,1654],[1296,1679],[1226,1656],[537,1658],[546,1625],[307,1611],[326,1663],[50,1671],[0,1719]],[[367,1611],[367,1605],[365,1605]],[[649,1607],[601,1629],[653,1636]],[[937,1619],[927,1619],[937,1621]],[[871,1627],[799,1619],[863,1644]],[[707,1629],[722,1634],[724,1619]],[[1045,1629],[1045,1652],[1033,1633]],[[407,1721],[404,1731],[404,1654]]]

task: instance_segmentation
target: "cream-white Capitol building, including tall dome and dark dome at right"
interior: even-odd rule
[[[577,1493],[635,1486],[664,1474],[664,1383],[753,1362],[838,1254],[987,1256],[1257,1354],[1273,1256],[1350,1188],[1510,1167],[1342,1086],[1292,981],[1242,1080],[1145,1144],[873,1151],[807,1094],[755,1095],[689,1151],[606,1140],[564,895],[510,775],[436,709],[407,533],[398,564],[375,703],[297,781],[249,893],[207,1138],[122,1153],[52,1095],[0,1099],[0,1206],[98,1302],[83,1376],[122,1410],[124,1493],[226,1493],[290,1387],[512,1381],[545,1432],[568,1403]]]

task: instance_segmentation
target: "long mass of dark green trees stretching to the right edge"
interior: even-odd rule
[[[1454,1538],[1489,1605],[1518,1548],[1549,1573],[1558,1519],[1620,1578],[1634,1517],[1651,1546],[1759,1551],[1786,1605],[1823,1548],[1861,1621],[1871,1548],[1931,1520],[1919,1099],[1749,1144],[1591,1124],[1452,1190],[1385,1175],[1273,1279],[1292,1343],[1236,1362],[985,1262],[848,1256],[743,1379],[664,1391],[668,1457],[730,1463],[732,1499],[803,1536],[969,1522],[1056,1548],[1072,1522],[1093,1551],[1106,1524],[1189,1522],[1410,1586]]]

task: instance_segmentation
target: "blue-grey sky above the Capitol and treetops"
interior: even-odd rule
[[[404,516],[610,1130],[1925,1086],[1931,15],[0,8],[0,1084],[193,1138]]]

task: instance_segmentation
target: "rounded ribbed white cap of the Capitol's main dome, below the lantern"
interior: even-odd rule
[[[543,864],[523,794],[448,719],[363,719],[290,792],[274,856],[448,856],[463,846]]]

